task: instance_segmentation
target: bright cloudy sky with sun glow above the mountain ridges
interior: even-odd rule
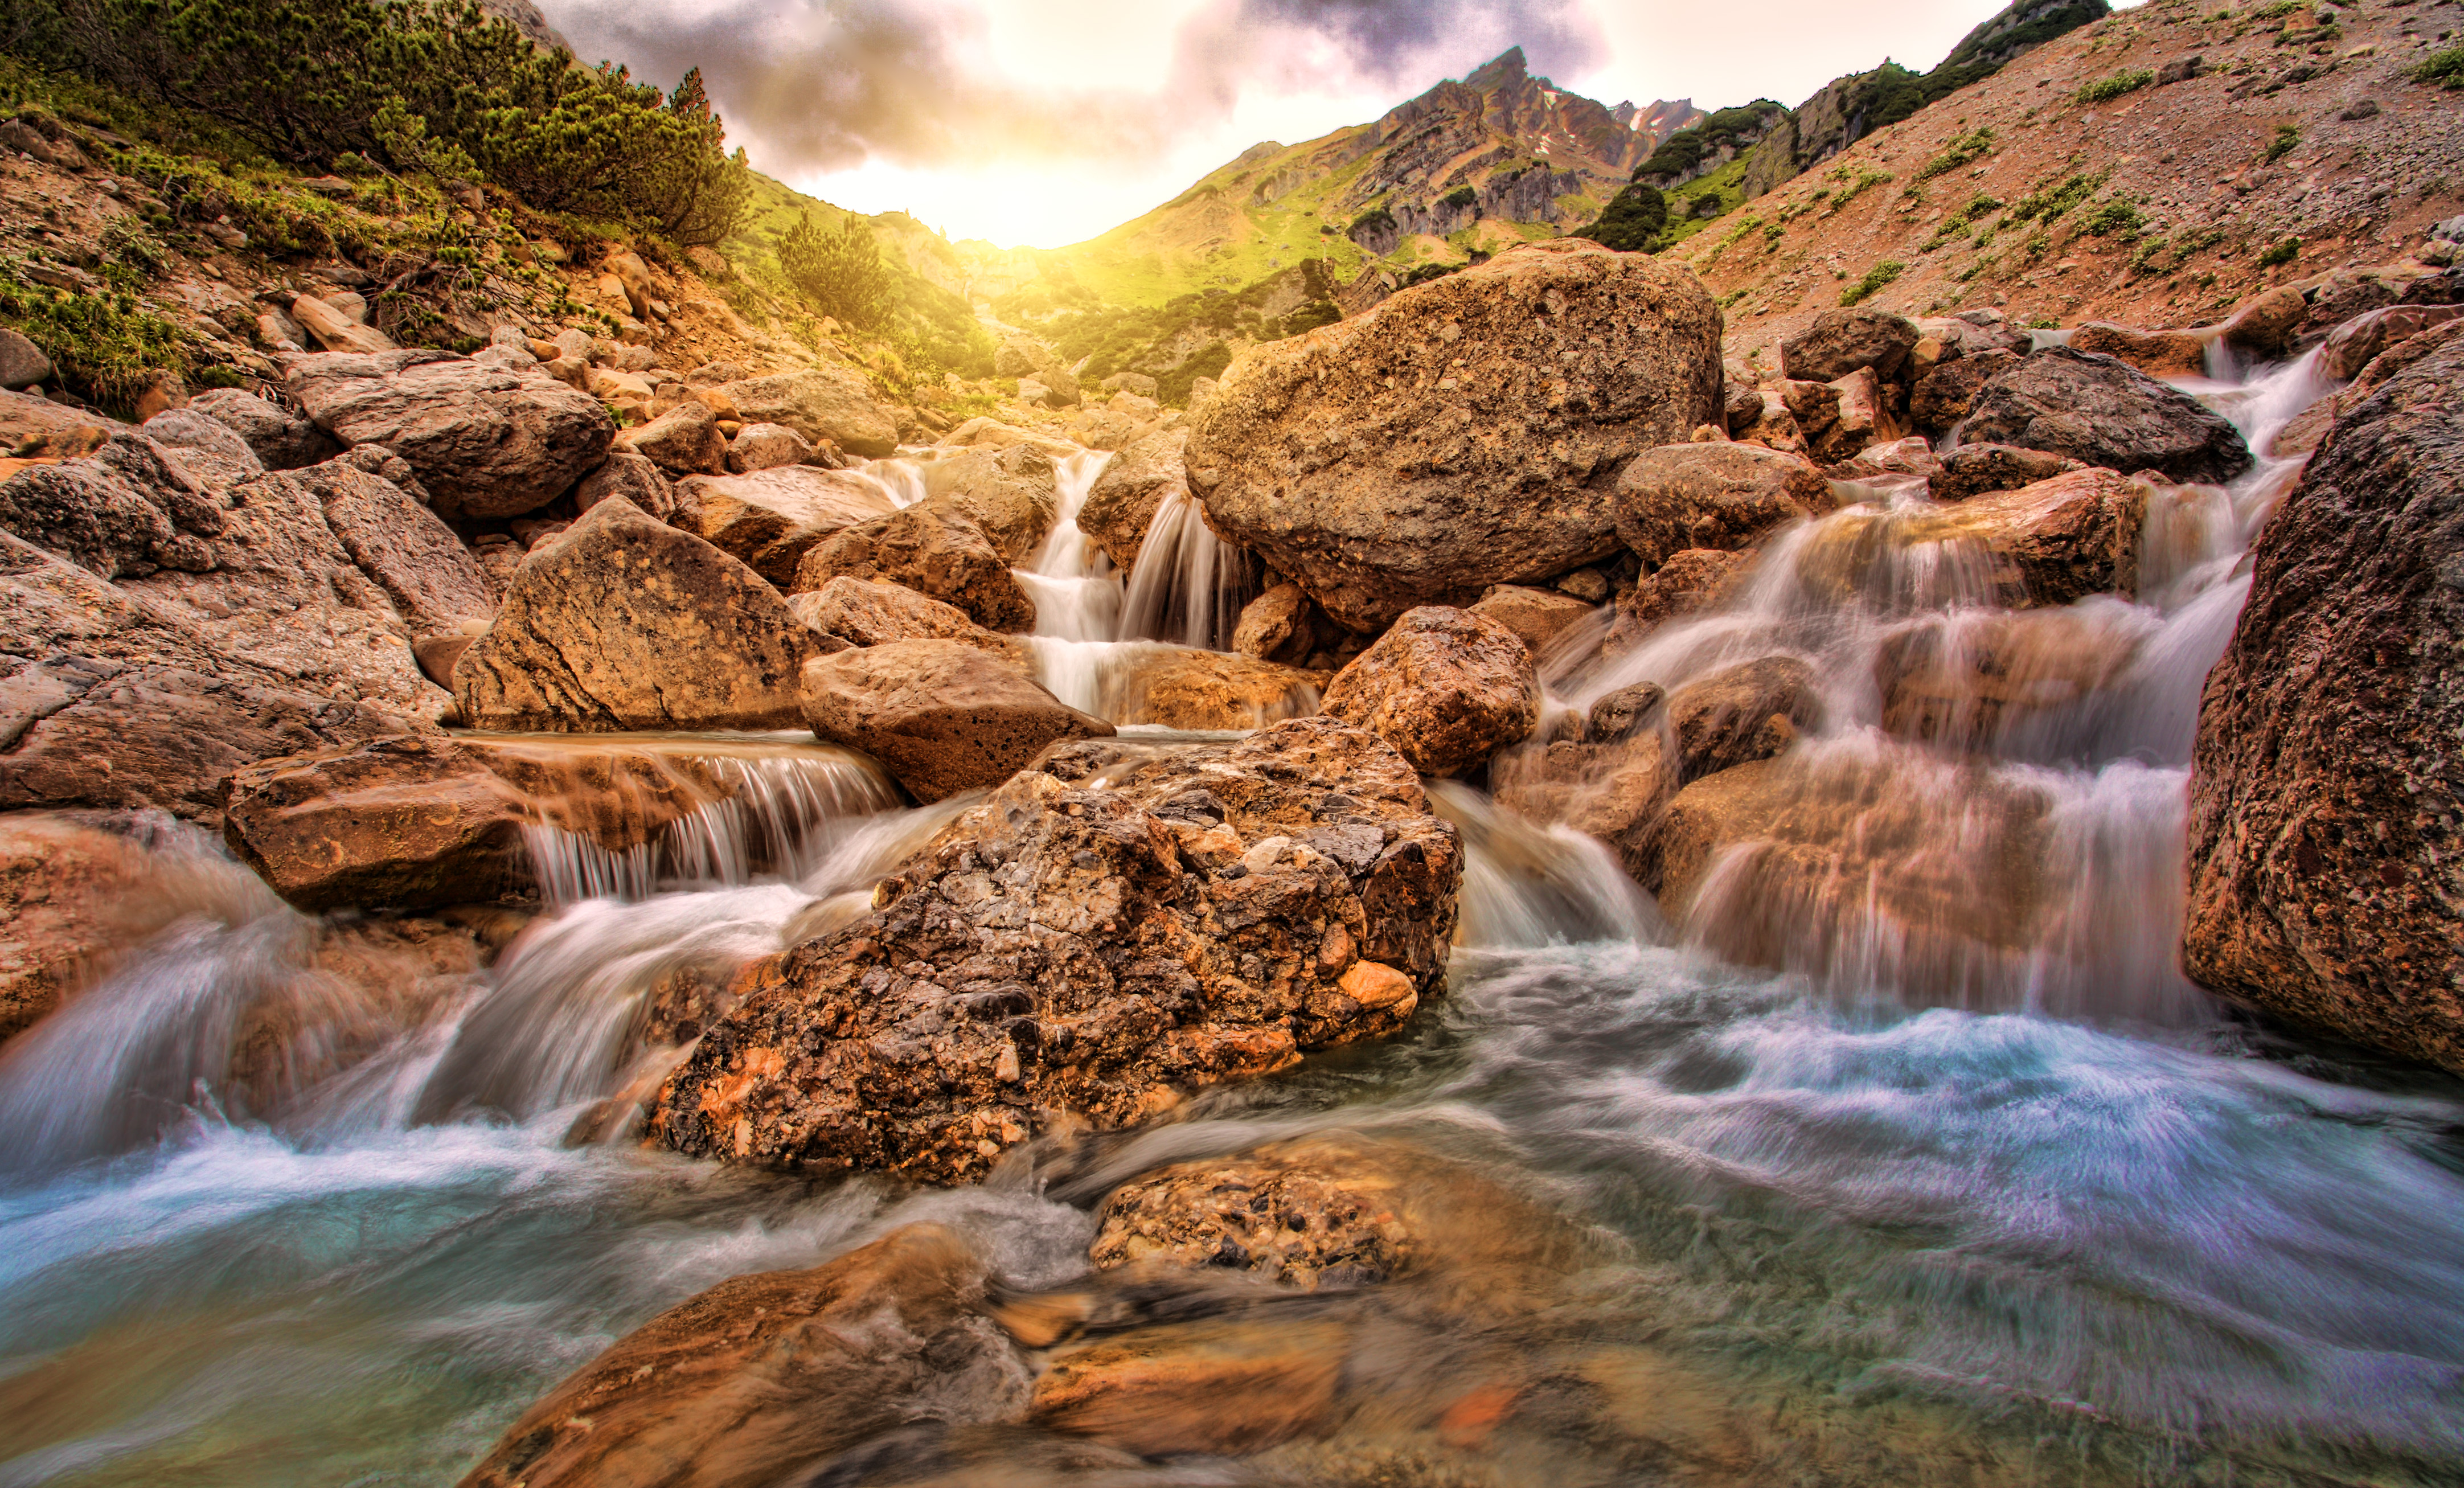
[[[584,62],[702,69],[754,168],[951,239],[1064,246],[1259,140],[1368,123],[1520,44],[1619,103],[1796,106],[1927,69],[1998,0],[537,0]]]

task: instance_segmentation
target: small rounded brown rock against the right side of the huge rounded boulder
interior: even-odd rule
[[[1616,537],[1661,567],[1688,547],[1737,549],[1781,522],[1831,510],[1831,483],[1809,461],[1752,443],[1663,443],[1616,480]]]

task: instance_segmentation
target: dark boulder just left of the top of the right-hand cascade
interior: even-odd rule
[[[2070,347],[2045,347],[1988,382],[1959,436],[2168,480],[2225,483],[2252,466],[2242,434],[2190,394]]]

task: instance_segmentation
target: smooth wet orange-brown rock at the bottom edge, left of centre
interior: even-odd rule
[[[461,1488],[771,1488],[924,1402],[941,1424],[1015,1417],[1027,1370],[986,1291],[986,1259],[939,1224],[734,1276],[557,1385]]]

